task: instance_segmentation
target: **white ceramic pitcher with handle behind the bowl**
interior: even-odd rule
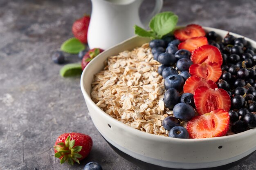
[[[156,0],[155,8],[141,22],[139,7],[143,0],[91,0],[92,15],[88,29],[90,49],[109,47],[134,35],[133,26],[146,28],[150,19],[162,9],[163,0]]]

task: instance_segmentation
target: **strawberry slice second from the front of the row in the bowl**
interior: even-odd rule
[[[229,93],[222,88],[199,87],[195,90],[194,101],[199,115],[219,108],[229,111],[231,106]]]

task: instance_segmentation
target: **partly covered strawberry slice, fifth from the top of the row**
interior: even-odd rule
[[[207,80],[202,77],[193,75],[186,80],[183,91],[184,93],[194,94],[195,90],[200,86],[206,86],[212,89],[218,88],[218,86],[212,80]]]

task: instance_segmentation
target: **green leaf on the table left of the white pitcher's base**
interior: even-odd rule
[[[66,53],[78,54],[80,51],[85,49],[85,45],[76,38],[70,38],[63,42],[61,50]]]

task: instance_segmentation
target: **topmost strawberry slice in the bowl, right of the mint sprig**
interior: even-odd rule
[[[185,28],[175,30],[174,36],[180,41],[185,41],[189,38],[204,37],[205,31],[200,25],[190,24],[187,25]]]

